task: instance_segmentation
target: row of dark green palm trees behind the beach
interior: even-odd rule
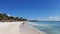
[[[27,21],[23,17],[8,16],[6,13],[0,13],[0,21]]]

